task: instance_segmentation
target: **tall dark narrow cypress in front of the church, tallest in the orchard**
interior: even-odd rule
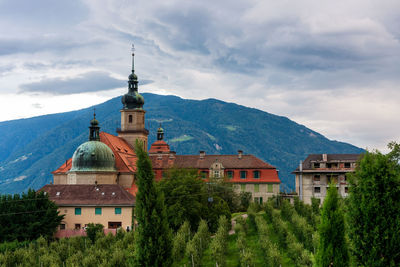
[[[168,227],[164,196],[156,189],[151,161],[136,142],[138,157],[136,194],[136,218],[138,221],[136,241],[136,264],[138,266],[171,265],[171,230]]]

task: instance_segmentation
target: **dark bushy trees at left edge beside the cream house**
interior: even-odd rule
[[[0,242],[53,237],[64,215],[45,192],[0,196]]]

